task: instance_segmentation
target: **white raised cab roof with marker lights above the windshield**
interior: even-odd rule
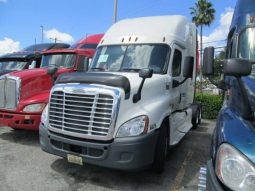
[[[193,25],[193,26],[192,26]],[[181,15],[152,16],[125,19],[115,23],[105,33],[102,45],[123,43],[165,43],[188,39],[194,24]],[[101,45],[100,44],[100,45]]]

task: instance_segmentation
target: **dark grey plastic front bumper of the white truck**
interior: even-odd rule
[[[111,142],[91,142],[48,131],[41,123],[40,145],[45,152],[67,158],[82,157],[83,164],[134,171],[145,169],[154,160],[158,132],[141,137],[116,138]]]

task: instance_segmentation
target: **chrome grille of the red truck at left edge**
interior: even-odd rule
[[[20,79],[3,76],[0,78],[0,108],[15,110],[20,95]]]

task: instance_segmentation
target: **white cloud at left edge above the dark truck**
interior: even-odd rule
[[[20,50],[20,42],[5,37],[0,40],[0,55]]]

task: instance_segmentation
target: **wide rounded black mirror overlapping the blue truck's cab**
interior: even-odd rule
[[[223,73],[227,76],[247,76],[252,71],[252,63],[249,60],[234,58],[227,59],[223,64]]]

